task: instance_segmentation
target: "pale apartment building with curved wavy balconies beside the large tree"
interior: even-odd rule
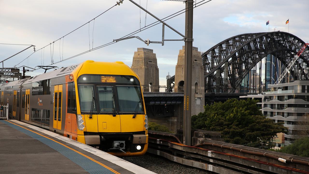
[[[309,136],[309,80],[269,84],[268,89],[263,93],[263,114],[288,128],[285,141],[277,146],[290,145],[297,138]]]

